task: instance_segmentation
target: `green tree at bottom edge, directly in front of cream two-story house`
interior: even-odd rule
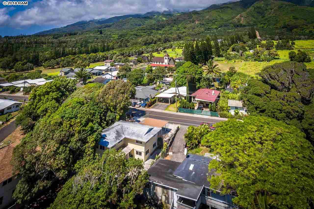
[[[108,149],[68,180],[50,208],[134,208],[149,179],[143,168],[142,160]]]

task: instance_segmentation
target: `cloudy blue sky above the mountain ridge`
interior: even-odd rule
[[[3,0],[0,0],[0,35],[30,35],[81,20],[153,10],[200,10],[226,1],[228,0],[28,0],[27,6],[4,6]]]

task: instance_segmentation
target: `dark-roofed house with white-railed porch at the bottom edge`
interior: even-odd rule
[[[213,158],[188,154],[182,163],[158,159],[149,169],[149,184],[144,195],[162,202],[166,208],[199,209],[201,205],[217,209],[238,209],[231,195],[222,195],[211,189],[208,176],[216,175],[208,170]]]

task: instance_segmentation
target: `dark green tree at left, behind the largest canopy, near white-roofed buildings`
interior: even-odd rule
[[[16,118],[17,125],[21,125],[25,132],[31,131],[36,121],[54,113],[75,89],[76,81],[65,77],[33,88],[30,101]]]

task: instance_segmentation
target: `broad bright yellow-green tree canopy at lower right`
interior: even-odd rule
[[[217,123],[202,139],[219,155],[209,169],[211,187],[236,196],[248,208],[256,194],[266,192],[278,208],[308,208],[314,199],[313,146],[305,134],[282,121],[248,116]]]

